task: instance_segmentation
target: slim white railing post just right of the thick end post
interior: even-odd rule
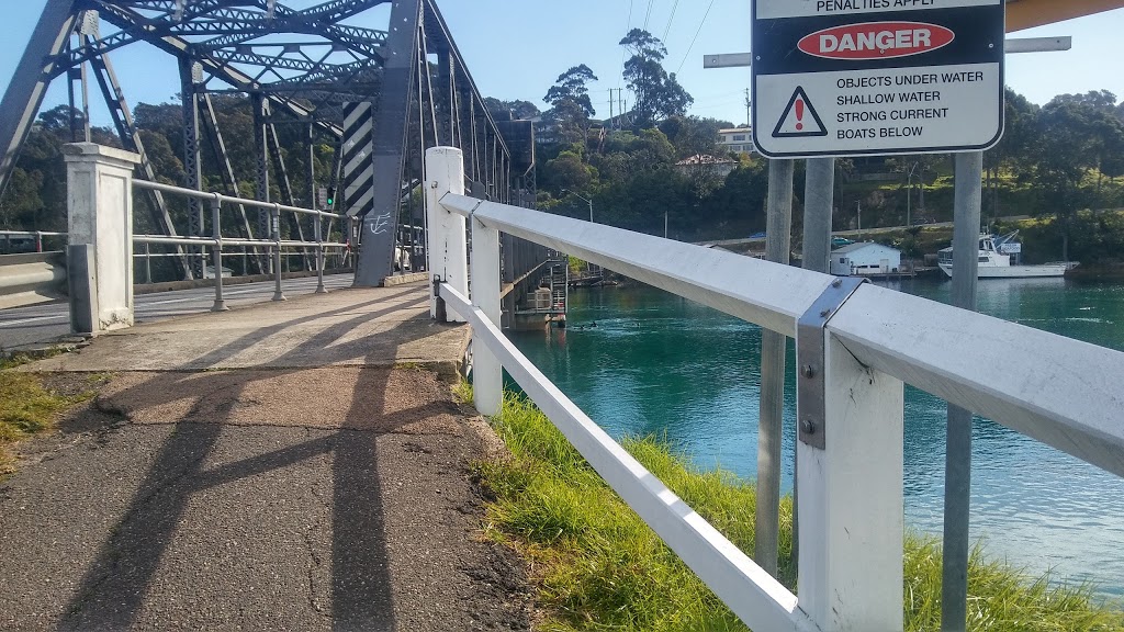
[[[499,231],[472,219],[472,306],[496,326],[500,320]],[[472,397],[481,415],[499,414],[504,368],[478,332],[472,332]]]

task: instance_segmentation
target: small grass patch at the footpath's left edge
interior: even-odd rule
[[[0,477],[13,471],[12,444],[54,427],[60,413],[93,395],[63,395],[46,388],[35,373],[9,370],[27,361],[0,360]]]

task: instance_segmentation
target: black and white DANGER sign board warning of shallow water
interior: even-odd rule
[[[754,0],[769,157],[986,150],[1003,136],[1003,0]]]

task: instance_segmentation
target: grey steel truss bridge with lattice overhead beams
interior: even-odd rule
[[[335,208],[329,210],[341,211],[345,234],[361,245],[357,285],[379,285],[392,273],[402,250],[425,247],[425,240],[402,243],[401,235],[417,235],[413,227],[424,226],[420,199],[415,200],[423,195],[423,156],[428,147],[462,150],[466,188],[473,196],[531,206],[536,190],[532,125],[497,121],[489,114],[434,0],[329,0],[294,7],[298,3],[47,0],[0,102],[0,192],[55,80],[69,87],[74,141],[89,139],[88,114],[83,134],[74,112],[88,112],[82,103],[88,103],[89,88],[96,85],[123,146],[142,157],[138,177],[155,179],[127,87],[110,62],[116,51],[144,44],[178,63],[187,172],[180,184],[200,189],[207,138],[219,165],[219,173],[207,175],[221,180],[232,196],[238,193],[239,180],[252,180],[259,200],[312,208],[317,186],[336,189]],[[384,29],[357,26],[375,21],[377,16],[384,18]],[[247,97],[253,110],[256,172],[252,174],[235,172],[227,155],[233,139],[224,136],[216,116],[211,96],[229,93]],[[306,129],[307,191],[293,189],[279,142],[280,125]],[[312,148],[323,142],[336,147],[335,164],[326,181],[321,175],[317,182]],[[270,200],[271,180],[281,199]],[[148,202],[157,231],[169,236],[202,234],[200,200],[190,202],[187,222],[180,219],[180,226],[160,191],[149,191]],[[244,238],[254,238],[255,233],[268,237],[278,229],[271,227],[268,211],[251,217],[239,207],[236,214]],[[299,219],[291,219],[288,228],[291,238],[303,241],[306,227]],[[425,261],[424,252],[415,254],[415,261]],[[506,259],[518,260],[520,268],[527,260]],[[198,276],[188,258],[179,262],[184,278]],[[265,256],[257,258],[259,268],[268,265]],[[505,276],[524,272],[505,270]]]

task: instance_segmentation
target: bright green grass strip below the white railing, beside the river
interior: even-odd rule
[[[469,391],[459,395],[471,399]],[[493,425],[510,457],[478,466],[493,495],[487,534],[529,562],[545,610],[544,631],[745,630],[725,605],[633,513],[553,425],[526,400],[508,396]],[[734,544],[753,550],[753,486],[724,472],[685,466],[664,442],[624,446]],[[781,580],[795,585],[791,500],[781,506]],[[907,630],[940,628],[941,553],[907,538]],[[1055,585],[972,554],[970,630],[1124,630],[1124,614],[1088,586]]]

